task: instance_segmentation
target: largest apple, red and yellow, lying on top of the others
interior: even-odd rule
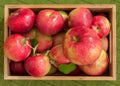
[[[102,50],[102,43],[95,31],[86,27],[74,27],[65,34],[63,51],[77,65],[94,63]]]

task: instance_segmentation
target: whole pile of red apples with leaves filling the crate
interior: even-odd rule
[[[85,7],[38,13],[19,8],[7,24],[12,34],[4,42],[4,54],[13,75],[42,77],[57,71],[96,76],[108,69],[110,21],[103,13],[94,15]]]

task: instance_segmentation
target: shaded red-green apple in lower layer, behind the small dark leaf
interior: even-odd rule
[[[25,37],[36,39],[38,42],[36,52],[43,52],[50,49],[52,46],[52,37],[50,35],[42,34],[36,27],[24,34]]]

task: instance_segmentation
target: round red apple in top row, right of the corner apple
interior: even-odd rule
[[[62,15],[52,9],[41,10],[36,18],[38,29],[46,35],[54,35],[62,30],[64,19]]]

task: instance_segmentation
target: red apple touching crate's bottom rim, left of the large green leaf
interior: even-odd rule
[[[47,56],[39,54],[27,58],[25,60],[24,67],[29,75],[42,77],[49,72],[51,65]]]

